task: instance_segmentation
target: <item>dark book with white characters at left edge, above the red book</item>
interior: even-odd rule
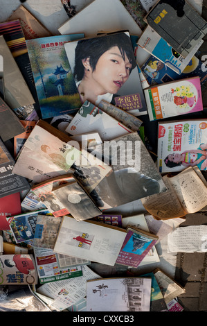
[[[30,185],[25,178],[13,173],[15,160],[0,139],[0,198],[16,194],[19,191],[30,190]]]

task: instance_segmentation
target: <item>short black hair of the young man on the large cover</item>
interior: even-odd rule
[[[127,56],[132,65],[131,71],[136,67],[136,59],[132,48],[130,37],[125,33],[116,33],[110,35],[100,35],[86,40],[78,41],[75,48],[75,68],[73,76],[77,81],[82,80],[84,76],[84,66],[82,60],[89,58],[92,71],[96,69],[96,64],[100,56],[111,49],[118,46],[123,59]]]

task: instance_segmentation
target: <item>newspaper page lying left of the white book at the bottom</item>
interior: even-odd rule
[[[98,274],[88,266],[82,266],[82,276],[43,284],[37,289],[37,294],[54,299],[51,308],[62,311],[84,298],[87,294],[87,281],[97,278],[100,278]]]

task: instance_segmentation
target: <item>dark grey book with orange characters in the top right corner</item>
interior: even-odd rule
[[[207,33],[206,20],[185,0],[159,0],[144,20],[184,58]]]

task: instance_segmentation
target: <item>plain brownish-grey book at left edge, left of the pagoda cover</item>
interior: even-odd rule
[[[11,109],[35,103],[35,100],[30,93],[30,89],[22,76],[17,62],[6,44],[3,35],[0,35],[0,53],[3,56],[5,102]]]

